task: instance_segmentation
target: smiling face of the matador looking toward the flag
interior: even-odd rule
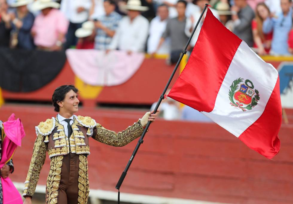
[[[70,90],[66,93],[63,101],[58,102],[60,110],[66,113],[76,113],[78,111],[79,100],[77,98],[77,93],[73,90]]]

